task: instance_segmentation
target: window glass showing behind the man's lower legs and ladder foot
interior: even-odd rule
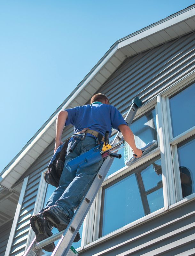
[[[48,184],[47,186],[47,191],[46,191],[46,194],[45,194],[45,200],[44,200],[44,207],[48,201],[48,199],[50,198],[51,194],[53,193],[53,191],[55,190],[55,187],[54,186],[51,186]],[[79,229],[79,233],[80,233],[80,236],[82,236],[82,228],[83,228],[83,224],[81,226],[81,228]],[[52,228],[52,233],[53,234],[57,234],[59,233],[58,229],[57,228]],[[57,245],[59,242],[59,239],[57,241],[54,242],[55,245]],[[80,241],[78,241],[77,243],[73,243],[73,247],[76,249],[76,248],[79,248],[81,246],[81,239]],[[41,255],[44,255],[44,256],[49,256],[52,254],[52,252],[46,252],[44,250],[42,250],[42,254]]]

